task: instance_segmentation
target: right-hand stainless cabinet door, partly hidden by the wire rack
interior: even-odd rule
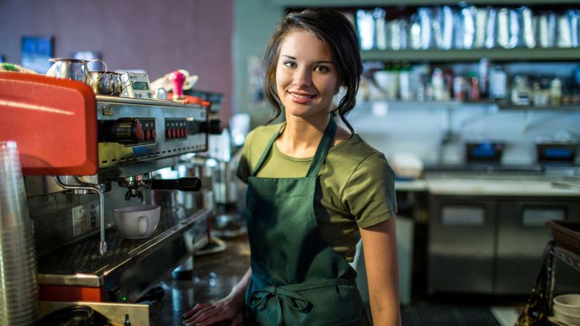
[[[499,202],[495,293],[530,293],[550,239],[546,222],[552,219],[580,219],[580,203],[529,198]]]

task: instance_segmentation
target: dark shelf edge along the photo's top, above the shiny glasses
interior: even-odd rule
[[[463,1],[457,0],[270,0],[270,3],[284,7],[356,7],[364,8],[370,6],[434,6],[442,4],[460,4]],[[558,4],[578,4],[574,0],[470,0],[470,5],[558,5]]]

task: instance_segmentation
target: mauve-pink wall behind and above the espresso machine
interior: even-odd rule
[[[233,0],[0,0],[0,55],[20,63],[23,35],[55,36],[55,57],[100,51],[110,70],[145,69],[151,81],[176,69],[195,88],[233,95]],[[227,120],[226,120],[227,121]]]

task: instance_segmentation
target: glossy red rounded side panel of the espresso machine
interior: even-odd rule
[[[0,141],[17,143],[25,175],[94,175],[96,103],[80,81],[0,72]]]

